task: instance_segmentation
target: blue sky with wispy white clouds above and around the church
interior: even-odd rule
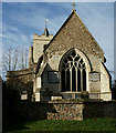
[[[77,2],[75,9],[104,50],[106,66],[114,71],[114,3]],[[50,33],[55,34],[71,11],[70,2],[3,2],[3,51],[32,45],[33,34],[43,32],[45,19]]]

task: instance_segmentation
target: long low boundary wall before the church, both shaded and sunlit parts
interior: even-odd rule
[[[11,109],[10,109],[11,110]],[[28,120],[84,120],[89,117],[116,117],[116,101],[57,100],[46,102],[21,102],[13,108],[18,121]]]

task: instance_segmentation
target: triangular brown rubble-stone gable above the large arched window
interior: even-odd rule
[[[103,50],[82,22],[75,10],[72,11],[64,24],[50,41],[45,51],[54,53],[63,50],[67,51],[71,48],[77,48],[84,51],[85,54],[96,55],[104,61]]]

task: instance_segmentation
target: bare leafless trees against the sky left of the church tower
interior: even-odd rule
[[[15,71],[28,68],[28,48],[9,49],[2,54],[2,78],[6,79],[7,71]]]

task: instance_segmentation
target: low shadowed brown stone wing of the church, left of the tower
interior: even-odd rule
[[[33,91],[33,70],[24,69],[18,71],[8,71],[7,84],[10,90],[18,91],[19,95],[22,91],[27,91],[30,101]]]

